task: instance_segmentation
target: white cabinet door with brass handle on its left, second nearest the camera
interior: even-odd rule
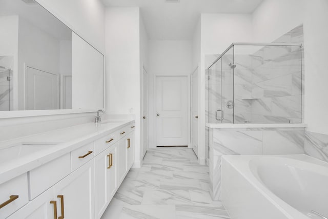
[[[59,181],[54,186],[54,194],[58,216],[65,216],[66,219],[93,219],[94,161],[89,161]]]

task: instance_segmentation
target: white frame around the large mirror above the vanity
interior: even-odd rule
[[[83,39],[87,44],[89,44],[92,48],[97,50],[101,55],[103,55],[103,78],[104,78],[104,106],[102,109],[106,110],[106,65],[105,65],[105,55],[103,52],[100,52],[95,46],[93,46],[90,42],[86,41],[84,37],[81,37],[81,34],[78,33],[73,25],[65,20],[63,16],[61,16],[58,12],[51,8],[47,0],[34,0],[40,7],[44,10],[48,11],[51,15],[56,17],[58,21],[63,23],[66,27],[68,27],[72,32],[78,35],[81,39]],[[17,118],[17,117],[31,117],[31,116],[46,116],[46,115],[63,115],[63,114],[76,114],[76,113],[91,113],[97,112],[98,109],[56,109],[56,110],[14,110],[14,111],[0,111],[0,120],[2,118]]]

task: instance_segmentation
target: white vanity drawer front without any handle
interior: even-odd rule
[[[70,173],[70,153],[29,171],[29,199],[33,200]]]

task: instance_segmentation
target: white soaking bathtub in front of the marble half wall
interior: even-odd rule
[[[308,155],[222,156],[231,219],[328,218],[328,164]]]

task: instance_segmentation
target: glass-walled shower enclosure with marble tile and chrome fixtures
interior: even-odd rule
[[[234,43],[208,68],[209,123],[301,123],[300,44]]]

